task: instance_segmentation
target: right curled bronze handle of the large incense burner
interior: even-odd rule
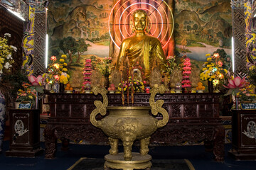
[[[167,113],[167,111],[162,108],[164,101],[163,100],[158,100],[156,102],[154,102],[154,98],[156,96],[156,94],[160,93],[160,94],[164,94],[165,91],[165,86],[164,84],[161,84],[161,86],[159,87],[154,87],[153,89],[150,90],[150,98],[149,98],[149,105],[151,106],[151,113],[153,115],[157,115],[158,113],[161,113],[161,115],[163,115],[163,119],[159,120],[156,124],[156,128],[161,128],[164,125],[166,125],[168,123],[169,120],[169,115]]]

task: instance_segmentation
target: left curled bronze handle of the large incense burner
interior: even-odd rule
[[[96,106],[95,110],[92,111],[90,114],[90,122],[92,125],[96,126],[97,128],[102,129],[102,121],[101,120],[96,120],[96,115],[100,113],[100,115],[106,115],[107,113],[107,104],[108,104],[108,99],[107,99],[107,90],[106,89],[100,89],[99,87],[95,86],[92,88],[93,94],[101,94],[103,98],[103,103],[101,101],[95,101],[94,104]]]

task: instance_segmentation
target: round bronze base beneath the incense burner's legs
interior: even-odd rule
[[[141,155],[137,152],[132,152],[132,160],[125,161],[124,153],[119,154],[107,154],[105,155],[104,169],[123,169],[123,170],[133,170],[133,169],[150,169],[152,157],[149,154]]]

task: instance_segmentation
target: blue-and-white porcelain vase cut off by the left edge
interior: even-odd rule
[[[4,141],[4,127],[5,127],[5,116],[6,116],[6,101],[4,95],[0,91],[0,152],[2,150]]]

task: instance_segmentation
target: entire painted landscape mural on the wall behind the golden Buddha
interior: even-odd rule
[[[168,27],[163,27],[164,34],[159,35],[162,46],[166,44],[164,47],[166,57],[187,55],[199,66],[206,61],[207,53],[213,54],[217,49],[223,49],[221,52],[225,54],[225,61],[230,63],[232,18],[229,0],[151,1],[154,3],[151,6],[147,5],[148,7],[145,7],[147,1],[139,1],[141,4],[137,7],[146,8],[146,10],[156,8],[161,13],[161,8],[157,7],[161,4],[166,9],[164,10],[167,11],[166,14],[160,14],[163,18],[157,16],[159,15],[157,13],[150,18],[151,28],[154,28],[156,23],[159,23],[159,26],[167,23]],[[114,23],[117,21],[113,23],[113,20],[125,11],[122,9],[117,12],[117,6],[127,3],[122,7],[130,8],[132,11],[131,6],[137,1],[121,3],[121,1],[112,0],[52,0],[50,3],[48,9],[49,57],[51,55],[60,57],[62,54],[68,56],[71,84],[79,88],[83,81],[80,77],[85,67],[85,59],[90,58],[92,65],[105,57],[107,57],[105,59],[111,57],[113,61],[116,59],[119,44],[115,43],[117,38],[121,42],[122,36],[114,32]],[[173,14],[174,16],[171,16]],[[126,16],[124,23],[119,24],[119,30],[123,30],[122,33],[127,29],[127,35],[124,36],[132,34],[129,32],[130,16],[128,14]],[[161,21],[157,21],[160,18]],[[171,18],[174,18],[174,22]],[[166,22],[167,19],[169,19],[168,22]],[[112,29],[109,30],[110,27]],[[151,30],[152,35],[153,30]],[[158,35],[157,31],[159,30],[154,32],[155,37]],[[164,38],[163,35],[165,35]]]

